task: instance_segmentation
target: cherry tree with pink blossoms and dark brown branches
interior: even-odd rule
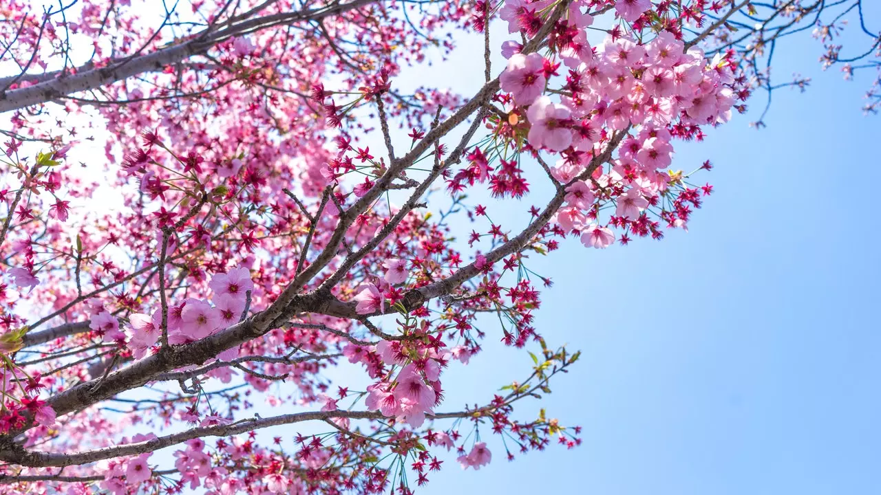
[[[807,85],[772,83],[790,35],[881,67],[863,8],[6,0],[0,492],[409,493],[448,452],[578,446],[536,403],[579,354],[534,328],[530,257],[686,228],[711,165],[674,145]],[[396,87],[465,38],[478,92]],[[523,375],[448,404],[496,345]]]

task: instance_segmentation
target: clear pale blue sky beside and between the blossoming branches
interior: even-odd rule
[[[413,84],[470,94],[481,62],[474,44],[460,46],[445,70],[411,72]],[[881,120],[860,109],[869,73],[822,72],[807,33],[777,50],[774,73],[813,78],[808,92],[775,92],[767,129],[747,125],[759,95],[705,142],[677,144],[674,168],[715,166],[698,178],[715,193],[689,233],[604,251],[571,240],[529,265],[554,280],[537,328],[582,351],[541,405],[583,426],[583,445],[507,462],[496,438],[490,466],[462,472],[448,456],[420,493],[881,492],[881,171],[870,151]],[[541,194],[493,220],[522,225]],[[496,338],[445,372],[442,409],[483,402],[529,367]]]

